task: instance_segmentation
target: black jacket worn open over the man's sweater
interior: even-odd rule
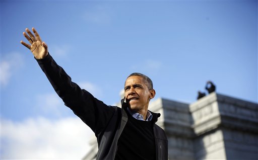
[[[37,61],[64,104],[95,133],[99,146],[96,159],[114,159],[118,138],[128,119],[124,99],[121,101],[122,108],[107,106],[73,83],[71,77],[56,64],[49,54]],[[160,114],[152,113],[152,115],[156,122]],[[156,159],[168,159],[168,141],[164,130],[154,124],[153,132]]]

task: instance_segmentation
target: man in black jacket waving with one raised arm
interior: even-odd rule
[[[95,133],[96,159],[168,159],[168,141],[163,129],[155,124],[160,114],[148,111],[154,98],[152,81],[141,73],[129,75],[124,85],[122,107],[107,106],[82,90],[56,64],[37,31],[23,33],[39,66],[64,104],[71,108]]]

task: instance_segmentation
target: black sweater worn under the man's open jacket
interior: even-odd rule
[[[128,121],[118,139],[115,159],[156,159],[153,122],[137,120],[126,113]]]

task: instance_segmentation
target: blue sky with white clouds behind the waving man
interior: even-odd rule
[[[152,78],[156,98],[192,103],[211,80],[258,102],[257,1],[1,1],[2,158],[81,158],[91,135],[20,44],[32,27],[108,105],[132,72]]]

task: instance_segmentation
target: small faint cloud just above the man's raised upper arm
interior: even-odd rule
[[[91,93],[94,97],[101,98],[102,90],[97,85],[92,84],[90,82],[82,82],[78,84],[82,89],[85,89],[86,91]]]

